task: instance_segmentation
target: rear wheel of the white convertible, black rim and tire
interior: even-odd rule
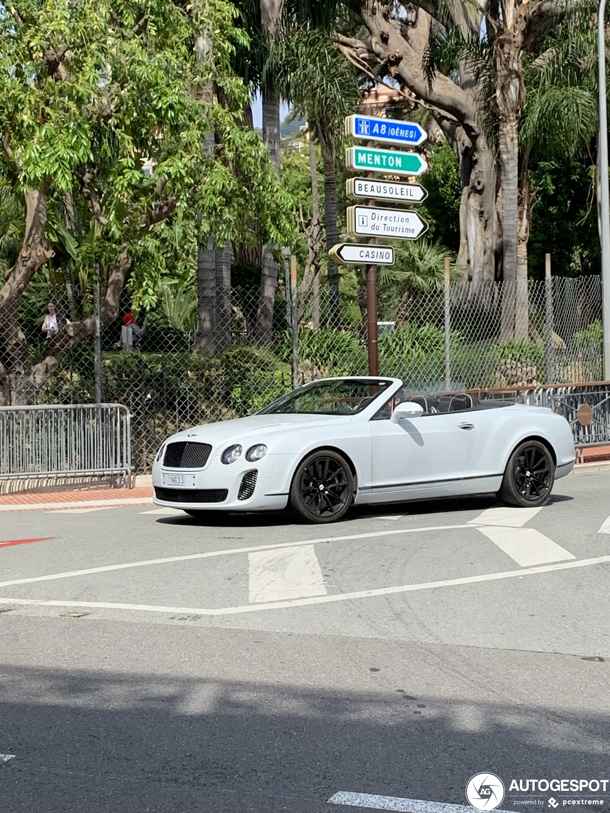
[[[498,497],[508,506],[535,508],[547,502],[554,481],[551,452],[539,441],[523,441],[508,458]]]

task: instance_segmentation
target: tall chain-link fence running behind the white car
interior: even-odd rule
[[[102,402],[123,403],[133,415],[135,469],[150,467],[164,437],[258,411],[291,389],[294,378],[306,383],[368,372],[364,287],[342,280],[334,309],[330,303],[337,300],[329,296],[325,280],[310,285],[307,297],[298,293],[294,334],[294,302],[283,283],[278,285],[272,341],[265,346],[256,343],[261,309],[254,286],[217,295],[220,305],[204,320],[209,330],[203,345],[194,289],[174,289],[146,318],[134,319],[124,308],[120,319],[102,328],[98,391]],[[34,312],[31,303],[29,311],[22,304],[14,329],[7,322],[0,326],[0,402],[5,405],[96,401],[93,332],[67,350],[75,340],[71,306],[60,290],[53,295],[55,320],[47,326],[56,328],[44,329],[46,301]],[[378,320],[380,374],[402,378],[413,389],[602,378],[599,276],[556,277],[532,282],[527,291],[497,284],[473,289],[464,282],[447,291],[380,286]]]

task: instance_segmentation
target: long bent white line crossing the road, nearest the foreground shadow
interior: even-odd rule
[[[575,562],[560,562],[556,564],[539,565],[538,567],[522,568],[521,570],[507,570],[499,573],[485,573],[481,576],[462,576],[459,579],[446,579],[442,581],[420,582],[416,585],[399,585],[397,587],[381,587],[371,590],[358,590],[354,593],[333,593],[326,596],[312,596],[311,598],[291,598],[281,602],[268,604],[245,604],[235,607],[170,607],[150,604],[123,604],[118,602],[72,602],[72,601],[39,601],[36,598],[0,598],[0,604],[56,606],[56,607],[94,607],[101,610],[133,610],[144,612],[184,613],[186,615],[238,615],[240,613],[255,612],[259,610],[280,610],[285,607],[310,606],[314,604],[329,604],[332,602],[347,602],[355,598],[373,598],[375,596],[390,596],[399,593],[416,593],[420,590],[432,590],[439,587],[455,587],[457,585],[476,585],[486,581],[503,579],[521,579],[523,576],[534,576],[538,573],[552,573],[559,570],[571,570],[573,567],[590,567],[595,564],[610,562],[610,556],[596,556],[594,559],[579,559]]]

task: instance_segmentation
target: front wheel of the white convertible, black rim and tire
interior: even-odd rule
[[[354,476],[346,459],[333,451],[308,454],[290,486],[290,506],[307,522],[336,522],[354,502]]]

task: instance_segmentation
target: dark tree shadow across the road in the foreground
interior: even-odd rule
[[[333,813],[338,790],[464,804],[479,771],[507,788],[608,777],[608,715],[415,696],[408,673],[368,692],[76,667],[4,667],[0,683],[13,813]]]

